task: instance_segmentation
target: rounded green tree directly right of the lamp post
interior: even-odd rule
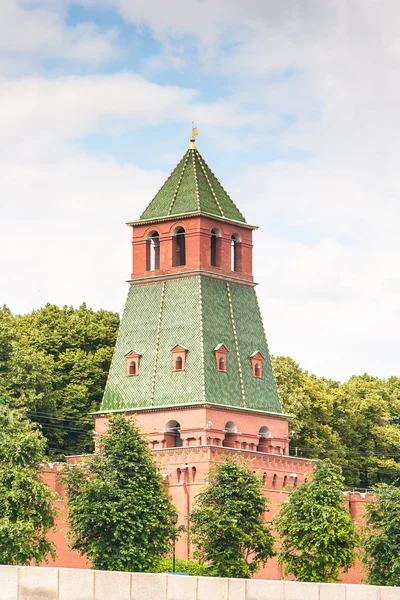
[[[195,556],[205,563],[204,575],[250,577],[274,555],[263,484],[232,459],[215,465],[208,483],[190,516]]]

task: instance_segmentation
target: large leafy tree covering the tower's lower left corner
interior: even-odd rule
[[[173,506],[136,425],[110,418],[99,450],[66,467],[71,548],[94,569],[151,571],[171,545]]]

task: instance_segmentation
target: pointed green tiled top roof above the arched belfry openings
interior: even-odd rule
[[[140,221],[196,213],[246,223],[198,150],[189,148]]]

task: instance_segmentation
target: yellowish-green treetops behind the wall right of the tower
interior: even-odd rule
[[[316,377],[291,358],[273,359],[283,408],[295,415],[290,451],[329,458],[348,487],[398,478],[400,379],[353,376],[345,383]]]

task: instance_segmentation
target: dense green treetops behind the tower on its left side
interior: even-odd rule
[[[28,411],[49,456],[93,449],[89,413],[100,405],[118,324],[85,304],[15,317],[0,310],[0,403]]]

